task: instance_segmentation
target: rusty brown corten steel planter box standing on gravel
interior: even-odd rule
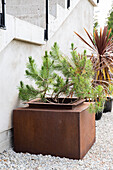
[[[13,112],[16,152],[72,159],[85,156],[95,142],[95,114],[88,113],[88,102],[71,109],[32,107]]]

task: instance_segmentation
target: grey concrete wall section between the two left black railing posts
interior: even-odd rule
[[[45,28],[45,0],[8,0],[7,14]]]

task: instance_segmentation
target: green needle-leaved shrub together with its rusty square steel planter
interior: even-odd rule
[[[29,57],[26,76],[35,88],[20,82],[19,97],[29,106],[13,112],[16,152],[81,159],[93,145],[94,111],[102,109],[103,87],[92,87],[86,52],[77,54],[72,44],[71,55],[64,57],[55,43],[49,55],[45,52],[40,70]],[[84,102],[97,96],[95,103]]]

